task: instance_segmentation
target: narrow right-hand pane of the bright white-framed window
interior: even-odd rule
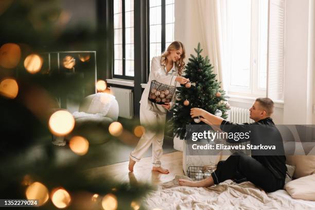
[[[266,89],[268,1],[259,1],[258,21],[258,89]]]

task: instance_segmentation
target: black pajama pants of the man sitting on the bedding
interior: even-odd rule
[[[277,179],[263,164],[244,153],[233,153],[226,161],[220,161],[211,174],[214,183],[231,179],[236,183],[250,181],[266,192],[283,189],[284,179]]]

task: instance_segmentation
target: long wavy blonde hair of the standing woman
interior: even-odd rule
[[[167,49],[164,51],[164,53],[162,53],[161,55],[161,64],[162,65],[166,65],[167,59],[166,57],[170,54],[170,50],[174,49],[174,50],[179,50],[180,48],[183,49],[183,54],[181,55],[181,58],[175,62],[175,66],[177,68],[178,74],[179,76],[182,76],[182,73],[184,71],[185,68],[185,62],[184,62],[184,58],[185,58],[185,47],[183,45],[183,43],[181,43],[180,41],[174,41],[172,42]]]

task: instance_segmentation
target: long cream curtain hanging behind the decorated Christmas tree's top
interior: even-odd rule
[[[221,88],[227,91],[228,85],[223,76],[225,8],[226,0],[176,0],[175,39],[184,43],[187,57],[195,54],[194,47],[200,42],[202,55],[209,57],[218,81],[222,82]]]

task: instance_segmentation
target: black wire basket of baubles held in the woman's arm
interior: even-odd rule
[[[175,90],[174,86],[152,80],[148,99],[154,103],[165,104],[171,102]]]

